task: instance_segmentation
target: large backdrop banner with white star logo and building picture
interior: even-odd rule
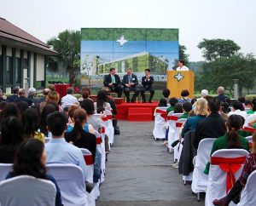
[[[150,69],[156,81],[166,81],[178,59],[178,29],[82,28],[81,84],[96,83],[114,67],[119,76],[127,68],[143,76]]]

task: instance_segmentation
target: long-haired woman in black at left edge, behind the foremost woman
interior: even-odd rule
[[[24,140],[20,119],[14,116],[6,117],[2,123],[1,133],[0,163],[14,163],[17,147]]]

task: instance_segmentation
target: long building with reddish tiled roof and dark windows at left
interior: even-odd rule
[[[42,88],[46,84],[47,55],[58,53],[26,31],[0,18],[0,88]]]

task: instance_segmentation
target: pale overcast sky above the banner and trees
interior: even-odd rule
[[[0,16],[46,42],[81,27],[178,28],[190,61],[203,38],[235,41],[256,54],[255,0],[0,0]]]

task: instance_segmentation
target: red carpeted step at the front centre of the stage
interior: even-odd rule
[[[131,107],[128,109],[128,121],[152,121],[152,109],[148,107]]]

